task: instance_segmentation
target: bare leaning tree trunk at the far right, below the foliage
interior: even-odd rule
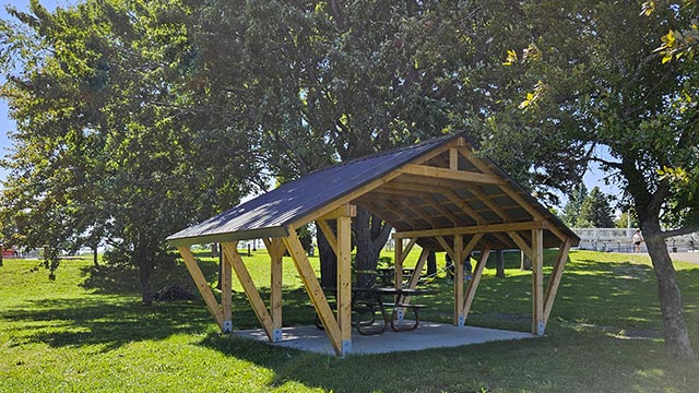
[[[653,270],[657,278],[657,296],[663,313],[665,350],[667,355],[676,359],[694,359],[695,355],[689,342],[689,332],[685,322],[675,267],[667,252],[665,239],[661,236],[660,225],[657,223],[642,223],[641,225],[648,253],[653,262]]]

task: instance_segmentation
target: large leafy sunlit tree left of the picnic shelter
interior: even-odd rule
[[[178,11],[179,10],[179,11]],[[111,263],[151,274],[171,259],[167,235],[248,192],[247,134],[208,127],[182,83],[196,58],[167,2],[85,1],[2,21],[2,97],[17,122],[2,195],[3,231],[43,247],[51,275],[61,250],[105,236]],[[206,154],[201,154],[206,152]],[[4,219],[7,218],[7,219]],[[94,235],[94,236],[91,236]],[[92,240],[90,238],[92,237]]]

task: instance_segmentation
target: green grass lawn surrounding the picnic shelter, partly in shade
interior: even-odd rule
[[[546,254],[547,263],[554,255]],[[215,283],[213,259],[201,259]],[[269,298],[263,254],[244,259]],[[344,359],[222,335],[199,296],[141,306],[131,271],[70,260],[48,281],[45,271],[33,271],[36,264],[5,260],[0,267],[0,392],[699,391],[699,364],[664,356],[644,257],[573,251],[543,338]],[[519,271],[516,254],[507,266],[503,279],[486,269],[467,324],[530,330],[531,275]],[[699,265],[676,267],[699,352]],[[284,324],[310,324],[313,313],[291,260],[284,275]],[[156,276],[154,289],[194,287],[182,265]],[[440,294],[420,298],[430,306],[420,314],[450,322],[451,284],[440,276],[429,286]],[[258,327],[239,284],[234,289],[234,327]]]

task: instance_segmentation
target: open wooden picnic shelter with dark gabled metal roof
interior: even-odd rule
[[[532,261],[532,334],[544,334],[568,251],[580,239],[491,159],[474,154],[465,134],[396,148],[311,172],[167,238],[177,247],[208,308],[223,332],[230,332],[232,274],[241,283],[272,342],[282,341],[282,259],[288,252],[337,355],[352,350],[351,223],[363,206],[393,226],[394,283],[419,245],[423,252],[408,282],[415,287],[429,251],[454,261],[453,324],[466,317],[490,250],[519,249]],[[336,221],[336,234],[329,221]],[[315,222],[337,255],[336,310],[333,312],[296,229]],[[262,239],[271,260],[269,308],[237,251],[240,240]],[[223,252],[218,302],[190,247],[220,242]],[[543,250],[558,248],[544,286]],[[463,263],[479,251],[464,288]]]

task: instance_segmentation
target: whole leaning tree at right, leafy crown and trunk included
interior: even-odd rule
[[[699,194],[682,187],[699,170],[699,70],[663,64],[654,51],[663,29],[687,20],[665,10],[649,21],[639,8],[635,2],[546,2],[529,10],[528,23],[536,26],[529,39],[541,55],[512,62],[520,71],[513,83],[529,91],[517,106],[522,117],[541,123],[560,126],[558,119],[568,119],[571,128],[557,138],[585,146],[583,157],[600,163],[624,188],[653,262],[667,352],[692,358],[664,239],[697,230],[699,223]],[[675,229],[662,230],[662,222]]]

